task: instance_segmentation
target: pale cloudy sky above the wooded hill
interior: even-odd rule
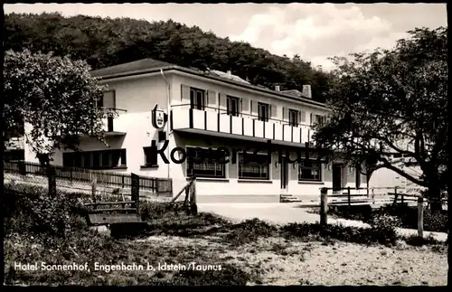
[[[415,27],[447,26],[446,4],[14,4],[4,10],[173,19],[274,54],[298,54],[325,70],[333,68],[328,57],[389,49]]]

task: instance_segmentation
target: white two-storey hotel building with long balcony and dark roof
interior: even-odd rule
[[[365,175],[345,164],[319,162],[314,152],[309,160],[287,163],[297,153],[305,158],[311,126],[327,115],[324,104],[310,99],[309,86],[303,93],[265,89],[231,73],[193,71],[152,59],[92,71],[92,75],[108,85],[99,106],[118,113],[106,119],[108,146],[80,137],[82,152],[58,152],[52,157],[55,165],[172,178],[174,193],[195,175],[199,203],[277,203],[281,194],[318,200],[324,186],[367,186]],[[167,113],[162,128],[152,123],[156,105]],[[167,141],[164,154],[169,164],[160,154],[153,159],[153,141],[158,149]],[[275,151],[271,159],[268,141]],[[172,155],[176,147],[190,157],[184,160],[183,152],[175,150]],[[209,148],[221,148],[222,153],[228,149],[228,157],[223,158],[231,162],[221,163],[208,151],[203,157],[210,159],[191,157]],[[243,154],[243,149],[252,153],[259,148],[258,155]],[[36,161],[26,145],[24,152],[25,160]],[[174,163],[171,156],[182,163]]]

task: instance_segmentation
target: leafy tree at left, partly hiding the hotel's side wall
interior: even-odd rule
[[[104,112],[95,104],[104,87],[85,61],[7,51],[4,76],[4,133],[29,125],[22,134],[37,157],[77,150],[80,135],[103,141]]]

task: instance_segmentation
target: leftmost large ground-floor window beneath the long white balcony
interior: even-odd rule
[[[224,156],[218,152],[199,147],[187,147],[186,168],[187,176],[196,177],[226,177],[226,165],[221,164]]]

